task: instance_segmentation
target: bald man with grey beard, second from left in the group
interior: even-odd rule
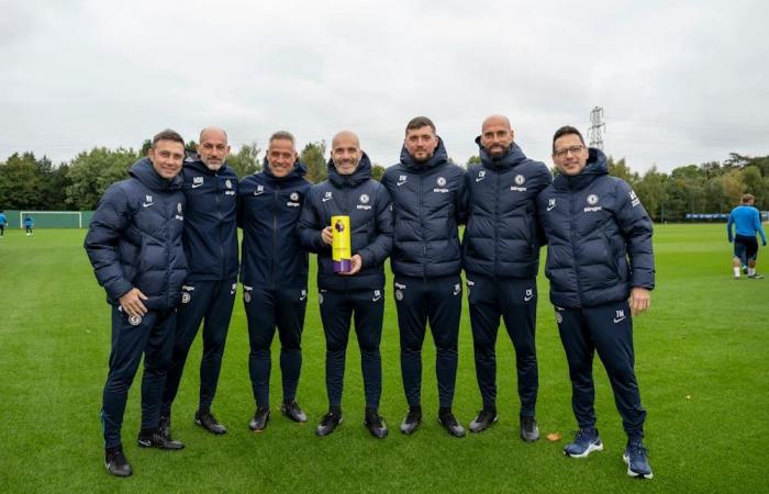
[[[237,288],[237,176],[226,165],[230,145],[222,128],[203,128],[199,141],[197,156],[190,156],[181,171],[187,198],[182,242],[189,276],[182,287],[174,357],[163,393],[160,431],[167,438],[171,404],[201,322],[203,358],[194,423],[215,435],[227,431],[211,413],[211,403]]]

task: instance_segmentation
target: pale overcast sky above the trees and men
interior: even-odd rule
[[[550,165],[554,131],[587,138],[597,105],[604,150],[636,171],[767,155],[768,5],[0,0],[0,160],[220,125],[234,148],[349,128],[388,166],[424,114],[465,162],[503,113]]]

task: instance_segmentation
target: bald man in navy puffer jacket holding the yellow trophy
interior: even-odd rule
[[[332,216],[338,215],[349,217],[352,258],[348,267],[335,269],[332,240],[344,224],[332,227]],[[374,437],[382,439],[387,425],[379,415],[379,341],[384,314],[383,265],[392,250],[392,209],[390,194],[371,179],[371,162],[360,149],[358,137],[349,131],[336,134],[332,141],[328,180],[310,190],[299,221],[299,236],[308,250],[317,254],[319,302],[326,338],[328,413],[315,434],[327,436],[342,423],[345,352],[350,318],[355,316],[366,393],[364,425]]]

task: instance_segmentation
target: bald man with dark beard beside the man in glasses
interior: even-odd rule
[[[535,441],[539,437],[534,413],[538,386],[534,333],[540,246],[536,197],[553,177],[545,164],[526,158],[513,137],[506,116],[487,117],[476,138],[481,162],[467,171],[471,205],[462,250],[483,404],[470,431],[486,430],[498,418],[494,346],[502,316],[515,347],[521,438]]]

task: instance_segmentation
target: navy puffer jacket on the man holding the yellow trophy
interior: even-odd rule
[[[323,243],[321,231],[331,217],[348,215],[353,255],[360,255],[363,268],[354,276],[336,274],[332,248]],[[317,254],[317,288],[322,290],[381,290],[384,259],[392,251],[392,209],[390,194],[371,179],[371,162],[364,153],[358,168],[339,175],[328,161],[328,180],[310,189],[299,222],[302,245]]]

